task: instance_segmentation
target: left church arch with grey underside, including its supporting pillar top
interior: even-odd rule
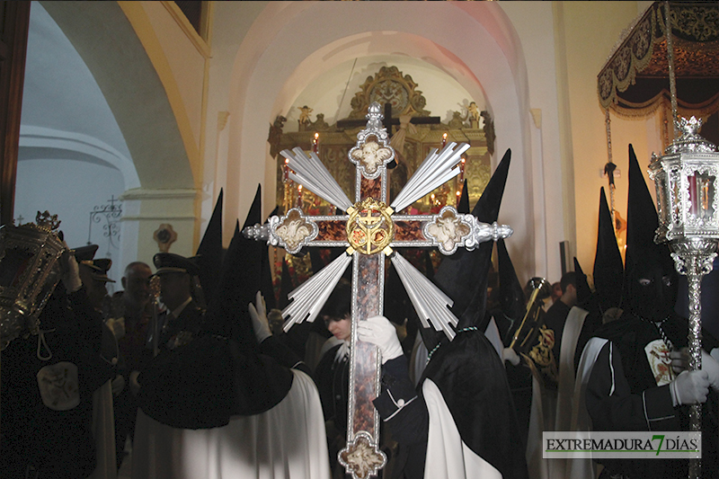
[[[174,251],[193,253],[200,178],[192,162],[197,162],[199,152],[187,137],[182,107],[168,93],[173,92],[173,84],[163,83],[159,67],[117,2],[42,2],[42,6],[92,72],[137,172],[138,186],[128,185],[121,197],[123,239],[118,262],[151,262],[156,252],[153,232],[163,219],[171,220],[178,233]]]

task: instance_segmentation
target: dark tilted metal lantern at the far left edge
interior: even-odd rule
[[[38,316],[60,279],[66,250],[58,216],[38,212],[35,223],[0,227],[0,350],[23,333],[40,333]]]

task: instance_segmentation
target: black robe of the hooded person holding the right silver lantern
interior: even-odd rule
[[[687,321],[672,315],[661,324],[675,349],[687,345]],[[644,347],[661,339],[653,324],[625,313],[617,321],[605,324],[596,333],[608,339],[599,352],[587,385],[586,405],[593,430],[688,430],[688,406],[674,407],[670,386],[657,386]],[[711,350],[715,341],[706,338]],[[716,393],[710,393],[703,407],[702,476],[715,477]],[[682,459],[601,459],[608,472],[634,478],[674,478],[688,473],[688,460]]]

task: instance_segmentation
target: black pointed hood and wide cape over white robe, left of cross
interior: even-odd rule
[[[245,226],[260,222],[260,197],[258,187]],[[140,406],[174,428],[217,428],[234,415],[265,412],[292,386],[292,372],[259,353],[247,307],[258,289],[263,245],[240,231],[237,223],[203,331],[163,350],[142,373]]]

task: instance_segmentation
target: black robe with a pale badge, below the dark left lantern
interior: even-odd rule
[[[44,359],[34,335],[14,340],[2,352],[0,477],[22,478],[30,469],[40,479],[84,478],[96,466],[93,392],[115,375],[115,366],[101,356],[102,318],[84,288],[67,297],[57,292],[40,315],[40,329],[47,343],[40,348]],[[77,368],[79,403],[67,411],[53,409],[40,395],[38,373],[58,363]],[[56,391],[75,395],[59,377],[55,383]]]

